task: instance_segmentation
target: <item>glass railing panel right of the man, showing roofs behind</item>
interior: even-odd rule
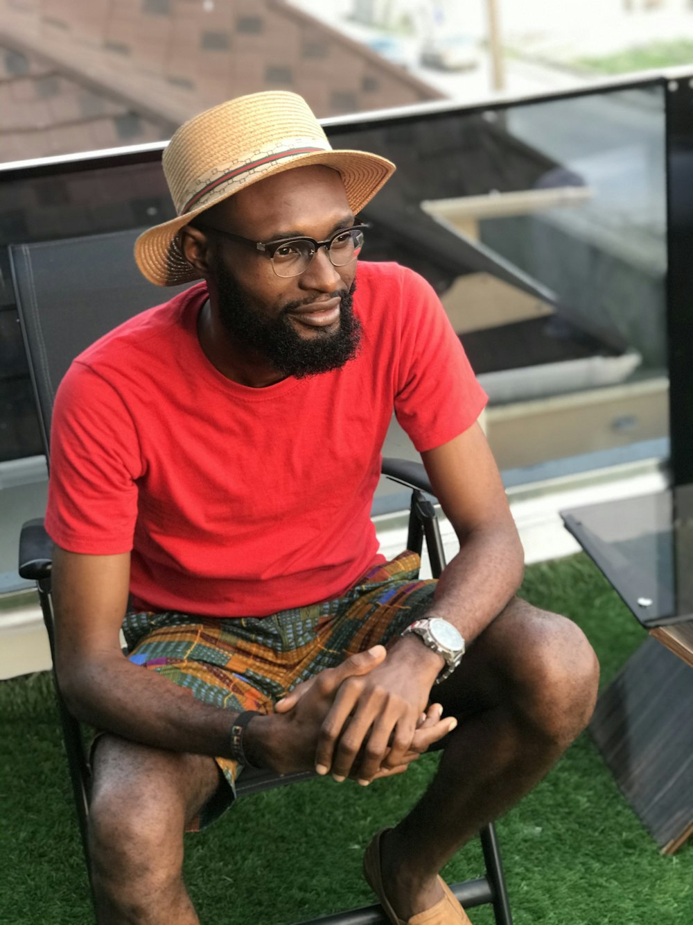
[[[397,164],[364,257],[441,295],[508,483],[667,453],[664,92],[334,129]]]

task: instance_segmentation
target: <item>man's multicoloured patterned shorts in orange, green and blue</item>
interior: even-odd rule
[[[222,709],[272,712],[301,681],[376,643],[386,644],[429,607],[435,581],[419,580],[419,556],[377,565],[341,598],[268,617],[199,617],[176,611],[128,613],[128,658],[193,697]],[[237,762],[216,759],[220,788],[188,831],[216,819],[233,800]]]

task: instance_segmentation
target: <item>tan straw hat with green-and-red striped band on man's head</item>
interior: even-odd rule
[[[135,243],[137,265],[157,286],[200,277],[181,253],[178,230],[251,183],[292,167],[334,167],[357,215],[395,171],[377,154],[333,151],[306,101],[285,91],[240,96],[191,118],[168,143],[163,163],[177,217]]]

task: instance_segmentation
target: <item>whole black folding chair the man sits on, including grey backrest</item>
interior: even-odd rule
[[[95,339],[170,297],[148,283],[135,266],[132,248],[138,229],[68,240],[16,245],[10,248],[12,278],[19,319],[30,364],[46,457],[55,389],[72,359]],[[444,551],[423,466],[403,460],[383,461],[383,474],[412,489],[407,548],[421,552],[425,539],[437,577],[444,568]],[[19,573],[36,582],[43,620],[54,655],[54,614],[51,597],[52,542],[43,520],[24,524],[19,544]],[[67,709],[55,679],[60,722],[77,808],[79,831],[90,875],[87,842],[90,771],[79,722]],[[246,769],[237,796],[248,796],[288,783],[310,779],[310,773],[286,774]],[[492,904],[497,925],[512,925],[498,843],[492,825],[480,833],[485,875],[451,888],[464,907]],[[304,925],[375,925],[386,919],[380,906],[312,919]]]

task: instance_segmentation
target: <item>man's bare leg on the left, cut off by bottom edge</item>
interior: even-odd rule
[[[93,759],[90,852],[99,925],[193,925],[183,833],[220,782],[212,758],[103,735]]]

